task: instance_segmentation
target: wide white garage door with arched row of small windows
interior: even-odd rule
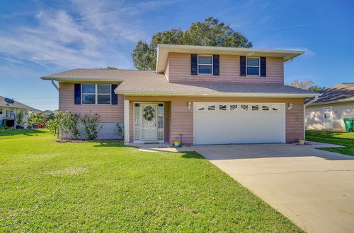
[[[284,103],[195,102],[194,143],[285,143]]]

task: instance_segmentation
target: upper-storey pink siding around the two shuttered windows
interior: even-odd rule
[[[190,75],[190,54],[170,53],[167,61],[166,77],[171,83],[207,82],[207,83],[253,83],[284,84],[283,60],[279,57],[267,57],[267,76],[239,76],[240,57],[220,55],[220,75]]]

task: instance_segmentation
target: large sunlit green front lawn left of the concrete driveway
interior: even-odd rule
[[[0,131],[0,232],[301,232],[197,153]]]

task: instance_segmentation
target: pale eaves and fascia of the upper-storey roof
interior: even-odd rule
[[[279,50],[279,49],[250,49],[235,47],[217,47],[181,44],[157,44],[156,72],[164,73],[167,57],[170,52],[188,54],[228,54],[239,56],[275,56],[282,57],[284,61],[294,59],[295,56],[304,54],[304,51]]]

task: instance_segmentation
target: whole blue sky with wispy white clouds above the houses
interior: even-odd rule
[[[137,40],[219,18],[260,49],[306,53],[285,65],[285,82],[354,83],[354,1],[0,1],[0,95],[57,109],[41,76],[71,68],[134,68]]]

